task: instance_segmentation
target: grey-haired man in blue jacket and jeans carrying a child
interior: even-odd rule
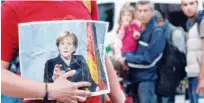
[[[148,0],[136,4],[137,19],[142,33],[138,48],[126,55],[121,64],[129,67],[133,103],[157,103],[155,93],[158,65],[165,47],[165,35],[154,18],[154,4]]]

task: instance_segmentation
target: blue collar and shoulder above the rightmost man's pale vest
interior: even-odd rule
[[[194,23],[198,22],[199,20],[201,20],[204,17],[204,10],[199,11],[198,14],[195,17],[195,20],[193,22],[190,21],[190,19],[187,20],[186,22],[186,29],[187,32],[189,31],[189,29],[193,26]]]

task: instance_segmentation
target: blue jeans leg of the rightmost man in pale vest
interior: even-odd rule
[[[193,78],[189,78],[189,90],[188,90],[188,94],[189,94],[189,99],[191,103],[198,103],[198,95],[196,94],[196,88],[198,85],[198,78],[197,77],[193,77]]]

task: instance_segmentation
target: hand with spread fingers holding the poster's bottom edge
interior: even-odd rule
[[[89,87],[89,82],[70,82],[67,78],[72,77],[76,73],[75,70],[63,73],[56,78],[54,83],[48,84],[49,98],[56,99],[59,102],[77,103],[84,102],[91,92],[79,90],[81,87]]]

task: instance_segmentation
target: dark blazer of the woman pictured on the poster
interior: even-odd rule
[[[86,60],[81,55],[72,55],[70,65],[67,65],[64,60],[58,56],[56,58],[50,59],[45,64],[44,69],[44,82],[54,82],[52,76],[56,64],[61,64],[60,70],[68,72],[70,70],[76,70],[76,74],[70,78],[67,78],[72,82],[87,81],[91,83],[89,90],[95,91],[97,84],[93,81]]]

